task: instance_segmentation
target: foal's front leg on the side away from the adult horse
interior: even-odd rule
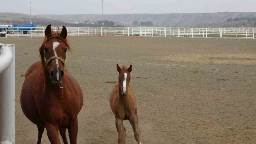
[[[130,117],[129,121],[132,125],[132,130],[134,132],[135,140],[138,142],[138,144],[141,144],[140,127],[139,127],[139,119],[138,119],[138,116],[137,116],[137,112],[135,112],[134,116]]]

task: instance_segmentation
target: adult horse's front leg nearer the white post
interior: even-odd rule
[[[45,124],[45,127],[51,144],[60,144],[59,127],[52,124]]]

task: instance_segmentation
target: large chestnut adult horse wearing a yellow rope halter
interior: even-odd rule
[[[37,125],[38,140],[46,128],[52,144],[76,144],[77,115],[83,106],[83,93],[66,67],[66,52],[70,50],[63,26],[61,33],[53,32],[51,25],[45,29],[44,42],[39,49],[41,61],[28,68],[22,85],[20,103],[23,113]]]

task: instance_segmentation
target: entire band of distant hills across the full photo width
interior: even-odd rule
[[[133,21],[151,21],[156,27],[225,27],[227,19],[235,19],[241,17],[256,17],[256,12],[216,12],[216,13],[170,13],[170,14],[113,14],[104,15],[104,20],[111,20],[117,23],[125,24],[130,26]],[[6,21],[7,20],[7,21]],[[8,21],[9,20],[9,21]],[[89,21],[91,23],[97,20],[102,20],[102,15],[94,14],[80,14],[80,15],[36,15],[31,18],[33,23],[38,25],[63,25],[71,26],[67,22],[82,22]],[[17,22],[28,22],[29,15],[20,13],[0,13],[0,23],[17,23]],[[66,23],[64,23],[66,22]],[[226,23],[229,26],[235,27],[241,25],[240,23],[246,22],[231,21]],[[252,26],[248,24],[248,26]],[[244,26],[245,27],[245,26]]]

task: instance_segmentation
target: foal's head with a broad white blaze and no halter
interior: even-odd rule
[[[126,67],[120,68],[118,64],[116,64],[116,69],[119,72],[119,89],[121,90],[122,95],[126,95],[127,87],[129,86],[131,80],[130,72],[132,71],[132,65],[130,65],[130,67],[127,69]]]

